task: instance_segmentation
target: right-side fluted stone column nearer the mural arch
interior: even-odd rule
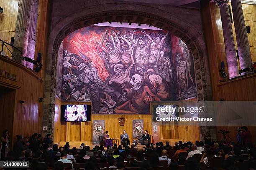
[[[234,78],[239,76],[239,74],[234,35],[228,10],[228,0],[215,0],[215,2],[217,2],[220,7],[220,16],[225,43],[226,60],[228,63],[228,75],[229,78]]]

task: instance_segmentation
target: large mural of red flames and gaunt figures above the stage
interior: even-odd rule
[[[195,97],[192,55],[161,30],[90,26],[63,41],[61,100],[94,114],[149,114],[149,103]]]

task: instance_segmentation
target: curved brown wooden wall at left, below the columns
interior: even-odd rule
[[[0,85],[15,89],[15,100],[10,98],[14,104],[10,102],[9,105],[14,108],[13,136],[41,133],[42,102],[39,102],[38,98],[43,97],[43,92],[39,90],[43,81],[30,69],[6,57],[0,56],[0,65],[0,69],[16,75],[16,80],[0,77]],[[25,103],[20,103],[20,100]]]

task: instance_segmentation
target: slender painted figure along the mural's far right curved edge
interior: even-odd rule
[[[187,64],[187,72],[188,72],[188,76],[189,79],[192,82],[192,85],[195,87],[194,85],[194,81],[193,78],[191,76],[191,60],[190,60],[190,51],[189,48],[187,47],[187,45],[179,39],[179,46],[182,47],[182,54],[183,54],[183,60],[186,62]]]

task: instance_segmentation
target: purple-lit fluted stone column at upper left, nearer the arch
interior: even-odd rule
[[[29,32],[28,32],[28,48],[27,57],[34,60],[35,49],[36,49],[36,30],[37,30],[37,16],[38,16],[38,5],[39,0],[31,0],[31,13],[29,22]],[[33,70],[33,64],[31,62],[26,62],[26,67]]]

